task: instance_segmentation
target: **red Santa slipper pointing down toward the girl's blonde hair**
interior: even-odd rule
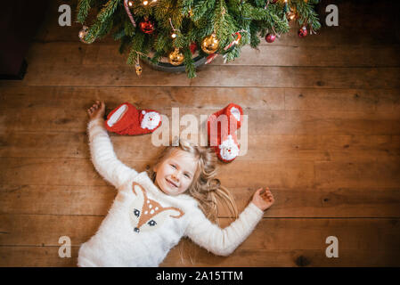
[[[223,115],[225,117],[221,117]],[[216,151],[218,159],[224,162],[233,161],[239,155],[236,130],[241,127],[242,115],[241,106],[230,103],[208,117],[208,143]]]

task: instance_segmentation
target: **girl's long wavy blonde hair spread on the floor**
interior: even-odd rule
[[[223,187],[216,179],[216,153],[208,147],[194,145],[185,140],[179,140],[177,146],[167,146],[154,161],[154,164],[147,170],[151,180],[154,182],[157,173],[154,172],[154,166],[159,165],[173,151],[187,151],[197,160],[197,169],[193,175],[193,180],[185,193],[190,194],[199,202],[199,207],[207,218],[218,224],[218,200],[223,202],[230,211],[233,218],[238,217],[238,209],[233,198],[233,194]]]

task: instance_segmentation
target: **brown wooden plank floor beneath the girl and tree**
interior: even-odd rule
[[[275,205],[232,256],[183,240],[163,266],[400,266],[400,36],[398,9],[388,9],[396,4],[335,1],[339,27],[305,39],[294,28],[188,79],[147,66],[136,77],[110,37],[80,43],[78,24],[57,24],[58,6],[74,11],[76,2],[51,1],[25,78],[0,81],[0,266],[75,266],[107,215],[116,191],[94,170],[86,137],[96,99],[169,118],[172,107],[200,118],[235,102],[249,115],[247,154],[219,177],[240,209],[260,186]],[[111,140],[138,170],[159,151],[149,135]],[[220,223],[230,221],[222,208]],[[64,235],[71,258],[58,256]],[[325,256],[328,236],[339,239],[338,258]]]

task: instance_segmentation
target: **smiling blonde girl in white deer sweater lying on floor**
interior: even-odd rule
[[[118,194],[98,231],[79,248],[78,266],[158,266],[183,237],[228,256],[273,205],[271,191],[258,189],[241,215],[221,229],[214,223],[217,199],[237,211],[233,196],[215,178],[215,151],[181,140],[148,172],[138,173],[117,159],[104,110],[103,102],[87,110],[90,151],[94,167]]]

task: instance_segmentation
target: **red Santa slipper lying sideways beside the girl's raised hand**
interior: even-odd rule
[[[137,110],[125,102],[107,116],[105,127],[117,134],[149,134],[161,125],[161,115],[156,110]]]

